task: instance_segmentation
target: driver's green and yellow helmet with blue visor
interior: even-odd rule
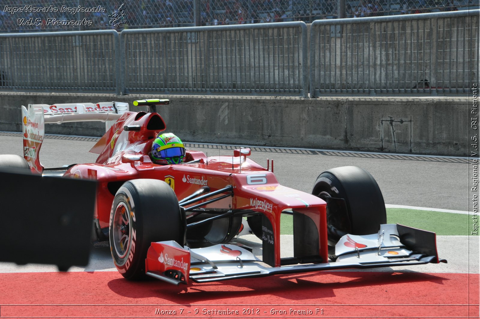
[[[152,160],[156,164],[178,164],[185,158],[185,147],[173,133],[158,134],[152,144]]]

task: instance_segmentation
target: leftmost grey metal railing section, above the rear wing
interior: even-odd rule
[[[0,87],[120,94],[117,31],[0,34]]]

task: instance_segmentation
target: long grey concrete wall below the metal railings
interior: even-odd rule
[[[155,95],[152,95],[154,97]],[[21,131],[20,106],[129,102],[145,96],[0,93],[0,130]],[[167,131],[185,141],[468,155],[468,98],[162,96]],[[100,136],[104,123],[48,124],[46,133]],[[1,138],[1,137],[0,137]]]

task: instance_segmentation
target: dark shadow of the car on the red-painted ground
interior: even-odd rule
[[[156,297],[167,303],[192,305],[204,302],[217,302],[225,299],[236,300],[247,298],[249,303],[261,304],[265,296],[271,300],[292,300],[295,303],[315,302],[325,298],[337,297],[341,294],[354,294],[359,298],[359,291],[367,290],[387,292],[388,289],[406,289],[421,287],[421,290],[441,289],[444,281],[450,279],[441,275],[425,273],[386,273],[386,272],[322,272],[294,275],[275,275],[252,279],[239,279],[224,282],[192,283],[188,286],[173,286],[165,282],[144,281],[130,282],[115,279],[108,282],[108,287],[116,294],[128,298]],[[407,288],[406,286],[407,285]],[[380,287],[380,290],[379,290]],[[410,287],[410,288],[408,288]],[[414,288],[415,289],[415,288]],[[360,294],[361,295],[361,294]],[[257,299],[259,297],[260,299]],[[361,298],[361,297],[360,297]],[[382,297],[380,296],[380,299]],[[375,303],[382,303],[376,300]]]

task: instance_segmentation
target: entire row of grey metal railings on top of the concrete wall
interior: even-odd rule
[[[0,34],[0,89],[238,95],[466,93],[480,10]],[[310,54],[310,60],[307,58]],[[307,70],[310,69],[310,72]],[[310,88],[309,88],[310,86]]]

